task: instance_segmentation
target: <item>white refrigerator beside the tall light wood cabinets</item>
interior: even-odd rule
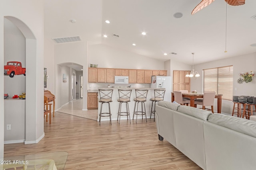
[[[150,88],[165,88],[164,101],[172,102],[171,76],[152,76]]]

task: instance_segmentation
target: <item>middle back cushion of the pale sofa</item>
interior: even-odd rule
[[[186,115],[196,117],[198,119],[202,119],[204,121],[207,121],[208,116],[212,115],[211,111],[198,109],[196,107],[190,107],[190,106],[180,106],[180,107],[178,107],[177,111],[184,113]]]

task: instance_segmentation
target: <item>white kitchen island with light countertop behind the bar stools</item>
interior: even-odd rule
[[[129,104],[129,109],[130,109],[130,117],[131,117],[131,121],[132,121],[132,117],[133,117],[133,111],[134,111],[134,105],[135,105],[135,101],[134,98],[136,98],[136,94],[135,94],[135,89],[137,90],[148,90],[148,95],[147,95],[147,101],[145,102],[145,106],[146,106],[146,116],[147,119],[150,118],[150,111],[151,111],[151,105],[152,105],[152,101],[150,101],[150,98],[154,98],[154,90],[161,90],[164,88],[98,88],[99,90],[112,90],[113,89],[113,94],[112,94],[112,102],[110,102],[110,109],[111,109],[111,119],[112,119],[112,123],[115,123],[114,120],[117,120],[117,116],[118,116],[118,106],[119,106],[119,102],[117,101],[119,99],[119,94],[118,94],[118,89],[120,90],[132,90],[131,93],[131,97],[130,97],[130,102],[128,102]],[[166,95],[170,95],[171,94],[164,94],[164,96]],[[98,96],[98,99],[100,100],[100,96]],[[101,103],[98,103],[98,121],[100,120],[100,105]],[[124,107],[122,107],[122,111]],[[140,109],[140,107],[139,107]],[[108,107],[107,105],[103,105],[102,107],[102,112],[106,112],[108,111]],[[136,115],[135,115],[136,116]],[[134,119],[136,119],[136,117],[134,116]],[[154,118],[154,115],[152,114],[152,118]],[[121,116],[121,120],[122,119],[126,119],[126,116]],[[142,119],[142,115],[138,115],[138,119]],[[143,117],[143,119],[145,119],[145,116]],[[101,121],[110,121],[110,117],[101,117]]]

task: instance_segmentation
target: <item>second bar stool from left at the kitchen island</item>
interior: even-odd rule
[[[129,109],[129,104],[128,104],[128,102],[130,102],[131,93],[132,93],[132,90],[118,89],[119,99],[117,101],[119,102],[119,107],[118,107],[117,121],[118,121],[118,117],[119,117],[119,124],[120,124],[121,116],[127,116],[127,120],[128,120],[128,115],[129,115],[130,124],[131,124],[130,109]],[[123,103],[126,104],[126,108],[125,108],[126,110],[122,112],[122,104]]]

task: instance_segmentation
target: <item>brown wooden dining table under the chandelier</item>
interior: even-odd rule
[[[194,92],[188,92],[182,94],[183,98],[190,98],[190,106],[196,107],[195,105],[195,99],[203,98],[203,93],[194,93]],[[215,98],[217,98],[217,113],[221,113],[221,103],[222,103],[222,94],[216,94]],[[172,92],[172,102],[174,101],[174,93]]]

